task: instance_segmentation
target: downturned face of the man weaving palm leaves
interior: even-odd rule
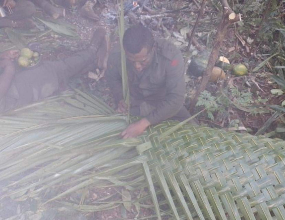
[[[132,63],[136,71],[141,72],[150,66],[154,56],[154,47],[149,51],[143,47],[139,53],[130,53],[125,50],[127,60]]]

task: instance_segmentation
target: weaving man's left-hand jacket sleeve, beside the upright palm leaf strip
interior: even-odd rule
[[[121,57],[119,52],[111,53],[108,59],[106,79],[111,89],[115,105],[123,99],[122,77],[121,77]]]

